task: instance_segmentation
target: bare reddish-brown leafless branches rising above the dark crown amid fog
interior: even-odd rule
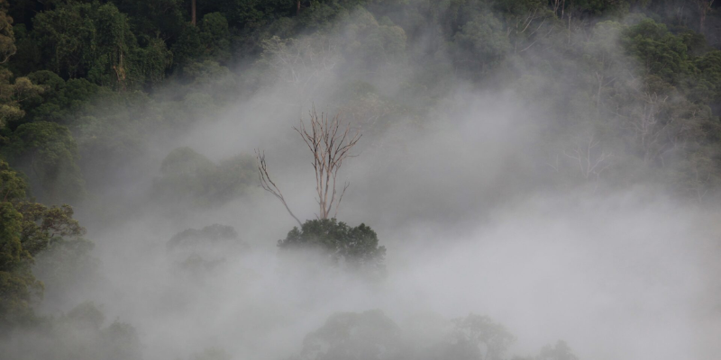
[[[315,216],[318,219],[328,219],[333,211],[334,218],[338,214],[343,194],[350,185],[350,183],[346,182],[343,184],[341,193],[338,193],[336,186],[338,170],[340,170],[346,158],[354,156],[351,155],[351,148],[358,143],[361,135],[359,130],[351,130],[350,124],[341,125],[340,113],[330,119],[324,112],[318,115],[314,106],[309,114],[310,123],[308,126],[301,119],[300,125],[293,129],[300,134],[313,154],[312,165],[315,170],[316,201],[319,208],[319,212]],[[256,157],[258,159],[260,185],[265,191],[272,193],[280,202],[283,202],[290,216],[296,219],[298,224],[301,224],[293,211],[288,208],[278,186],[270,180],[264,154],[256,150]]]

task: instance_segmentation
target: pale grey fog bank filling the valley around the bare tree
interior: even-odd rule
[[[552,157],[539,129],[551,119],[512,88],[461,82],[424,122],[393,115],[381,126],[345,113],[362,137],[339,173],[351,185],[338,218],[378,233],[387,248],[379,281],[313,257],[281,256],[278,239],[297,223],[257,181],[217,206],[149,195],[174,148],[215,162],[260,148],[289,207],[300,220],[315,219],[312,157],[293,127],[308,121],[313,106],[342,112],[335,95],[346,80],[321,69],[288,85],[278,71],[196,127],[153,135],[158,141],[141,160],[78,206],[96,244],[97,274],[50,296],[41,313],[61,316],[93,302],[106,325],[136,329],[144,359],[190,359],[208,349],[233,359],[287,359],[334,313],[371,310],[383,311],[417,349],[443,341],[451,320],[475,313],[516,336],[508,358],[535,356],[560,339],[588,360],[721,354],[721,211],[651,182],[547,186]],[[379,65],[364,81],[396,96],[404,91],[398,84],[423,71]],[[207,250],[216,266],[184,270],[187,254],[169,249],[169,239],[212,224],[233,227],[245,245]],[[52,358],[49,348],[13,341],[5,345],[10,356],[0,357]]]

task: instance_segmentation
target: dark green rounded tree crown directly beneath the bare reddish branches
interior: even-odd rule
[[[386,247],[379,247],[376,232],[365,224],[355,228],[335,219],[307,220],[301,229],[293,228],[278,240],[283,250],[319,251],[333,264],[342,263],[351,270],[384,275]]]

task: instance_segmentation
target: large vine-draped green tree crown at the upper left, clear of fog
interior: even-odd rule
[[[43,67],[63,77],[125,89],[157,82],[170,64],[162,40],[141,48],[114,4],[69,2],[36,15],[33,27]]]

